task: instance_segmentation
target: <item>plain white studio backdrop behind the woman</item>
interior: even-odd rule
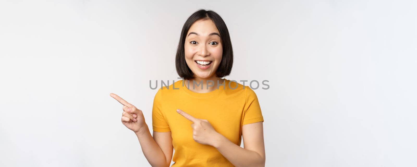
[[[0,166],[150,166],[116,93],[143,110],[178,80],[196,10],[219,13],[256,89],[267,167],[417,166],[416,1],[0,1]]]

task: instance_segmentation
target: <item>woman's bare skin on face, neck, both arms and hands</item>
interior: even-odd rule
[[[191,32],[197,33],[193,34]],[[191,34],[190,34],[191,33]],[[190,89],[197,93],[206,93],[217,88],[217,81],[221,84],[224,80],[216,76],[216,70],[219,67],[222,58],[221,38],[218,35],[210,35],[211,33],[219,33],[213,21],[198,20],[191,25],[188,30],[184,49],[185,59],[188,67],[193,71],[194,78],[191,81],[185,80],[185,85],[193,81],[199,83],[203,81],[203,89],[201,86]],[[210,60],[213,61],[208,69],[198,68],[194,60]],[[214,86],[208,87],[207,80],[214,81]],[[212,84],[212,83],[210,83]],[[197,89],[198,88],[198,89]],[[140,109],[123,100],[116,94],[110,94],[111,97],[119,101],[123,107],[122,123],[135,132],[138,137],[142,152],[153,167],[169,167],[173,156],[173,146],[171,132],[154,132],[153,137]],[[265,166],[265,146],[263,122],[256,122],[242,126],[242,137],[244,148],[234,144],[223,135],[216,132],[210,122],[205,119],[198,119],[185,111],[178,109],[176,111],[185,119],[191,121],[193,128],[194,141],[215,147],[226,159],[228,159],[236,167],[264,167]]]

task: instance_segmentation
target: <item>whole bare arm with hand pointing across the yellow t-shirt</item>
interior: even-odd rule
[[[236,167],[264,167],[265,146],[263,122],[255,122],[242,126],[244,148],[234,144],[216,132],[206,119],[197,119],[178,109],[186,119],[192,121],[193,139],[200,144],[215,147]]]

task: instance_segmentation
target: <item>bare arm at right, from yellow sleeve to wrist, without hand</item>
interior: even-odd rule
[[[264,167],[263,122],[245,124],[242,126],[244,148],[234,144],[221,134],[217,134],[213,144],[219,152],[236,167]]]

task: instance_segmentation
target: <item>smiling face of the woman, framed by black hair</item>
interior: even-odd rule
[[[216,76],[223,47],[219,30],[210,19],[198,20],[188,30],[184,52],[188,67],[196,78]]]

